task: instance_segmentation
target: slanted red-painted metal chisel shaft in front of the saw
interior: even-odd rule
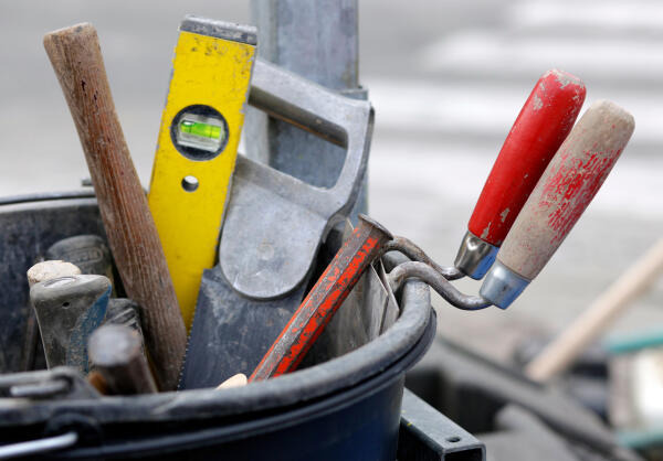
[[[391,238],[380,224],[359,215],[359,225],[351,237],[327,266],[249,382],[267,379],[297,367],[364,270],[380,256]]]

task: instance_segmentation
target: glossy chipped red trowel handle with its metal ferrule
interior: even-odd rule
[[[480,280],[495,260],[529,193],[571,130],[585,101],[585,85],[552,69],[536,83],[516,118],[478,197],[455,266]]]

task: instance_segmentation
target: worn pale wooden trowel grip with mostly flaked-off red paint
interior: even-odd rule
[[[525,203],[497,259],[532,280],[593,199],[633,132],[633,117],[594,103],[561,144]]]

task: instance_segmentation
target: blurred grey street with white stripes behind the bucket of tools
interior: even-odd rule
[[[535,82],[581,77],[586,107],[612,99],[635,133],[585,217],[506,312],[435,299],[439,332],[498,357],[568,324],[663,236],[663,3],[655,0],[359,0],[360,75],[376,107],[370,214],[442,264]],[[87,176],[42,47],[51,30],[98,31],[125,135],[149,183],[178,25],[186,13],[249,22],[249,2],[0,2],[0,194],[71,190]],[[1,259],[1,255],[0,255]],[[476,292],[476,282],[461,288]],[[613,331],[663,325],[663,281]]]

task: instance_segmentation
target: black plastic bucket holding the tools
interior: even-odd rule
[[[0,201],[0,347],[20,364],[29,310],[25,271],[54,242],[104,235],[85,193]],[[0,399],[0,441],[75,433],[49,459],[396,459],[404,373],[435,332],[428,286],[408,282],[400,317],[340,357],[275,379],[224,389],[137,397]],[[14,375],[3,375],[7,383]],[[1,447],[0,447],[1,448]]]

